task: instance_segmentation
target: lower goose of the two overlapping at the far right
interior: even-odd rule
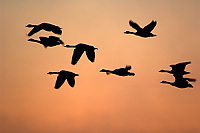
[[[168,82],[168,81],[162,81],[160,83],[164,83],[164,84],[170,84],[171,86],[175,86],[178,88],[193,88],[193,86],[191,84],[188,83],[188,81],[190,82],[195,82],[196,79],[191,79],[191,78],[183,78],[182,75],[173,75],[175,77],[175,81],[174,82]]]

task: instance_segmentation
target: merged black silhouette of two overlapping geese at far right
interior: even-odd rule
[[[196,79],[191,79],[191,78],[184,78],[183,75],[189,74],[190,72],[185,71],[186,65],[190,64],[191,62],[181,62],[177,63],[175,65],[170,65],[172,68],[171,71],[169,70],[160,70],[159,72],[167,72],[169,74],[173,74],[175,81],[174,82],[168,82],[168,81],[162,81],[160,83],[165,83],[165,84],[170,84],[172,86],[178,87],[178,88],[193,88],[191,84],[188,83],[190,82],[195,82]]]

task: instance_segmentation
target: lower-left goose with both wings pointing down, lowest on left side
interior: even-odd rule
[[[60,72],[48,72],[47,74],[58,74],[56,84],[55,84],[55,89],[60,88],[66,79],[67,79],[69,85],[71,87],[74,87],[75,76],[79,76],[78,74],[75,74],[70,71],[65,71],[65,70],[61,70]]]

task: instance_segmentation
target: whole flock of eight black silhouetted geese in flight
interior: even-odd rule
[[[143,38],[154,37],[156,35],[151,33],[151,31],[154,29],[156,24],[157,24],[156,21],[152,21],[151,23],[146,25],[144,28],[141,28],[137,23],[130,20],[129,25],[133,29],[135,29],[136,32],[125,31],[124,34],[133,34],[133,35],[140,36]],[[39,32],[41,30],[53,32],[58,35],[62,34],[62,28],[60,28],[59,26],[53,25],[53,24],[49,24],[49,23],[41,23],[39,25],[28,24],[26,27],[32,28],[32,30],[28,33],[29,37],[31,37],[33,34]],[[30,38],[30,39],[28,39],[28,41],[42,44],[45,48],[54,47],[54,46],[57,46],[60,44],[64,46],[64,42],[59,37],[55,37],[55,36],[39,37],[39,40]],[[95,48],[94,46],[91,46],[88,44],[83,44],[83,43],[79,43],[74,46],[65,45],[64,47],[74,48],[74,52],[73,52],[72,60],[71,60],[72,65],[77,64],[77,62],[81,58],[84,51],[86,53],[87,58],[93,63],[95,61],[95,50],[98,49],[98,48]],[[181,63],[175,64],[175,65],[170,65],[170,67],[172,68],[170,71],[169,70],[160,70],[159,72],[167,72],[169,74],[172,74],[175,78],[174,82],[162,81],[161,83],[170,84],[171,86],[175,86],[178,88],[187,88],[187,87],[193,88],[193,86],[188,81],[195,82],[196,80],[183,77],[183,75],[190,73],[190,72],[185,71],[186,65],[188,65],[190,63],[191,62],[189,61],[189,62],[181,62]],[[102,69],[102,70],[100,70],[100,72],[105,72],[107,75],[115,74],[118,76],[134,76],[135,73],[131,73],[131,72],[129,72],[129,70],[131,70],[131,66],[126,66],[124,68],[118,68],[118,69],[114,69],[114,70]],[[50,75],[57,74],[58,75],[56,83],[55,83],[55,89],[60,88],[63,85],[63,83],[65,82],[65,80],[67,80],[68,84],[71,87],[74,87],[75,77],[79,76],[78,74],[76,74],[74,72],[70,72],[70,71],[66,71],[66,70],[61,70],[59,72],[48,72],[47,74],[50,74]]]

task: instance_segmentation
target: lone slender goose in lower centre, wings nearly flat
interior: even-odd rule
[[[106,72],[107,75],[112,73],[112,74],[116,74],[118,76],[134,76],[135,75],[135,73],[130,73],[130,72],[128,72],[128,70],[131,70],[131,66],[126,66],[125,68],[119,68],[119,69],[115,69],[115,70],[102,69],[100,72]]]

